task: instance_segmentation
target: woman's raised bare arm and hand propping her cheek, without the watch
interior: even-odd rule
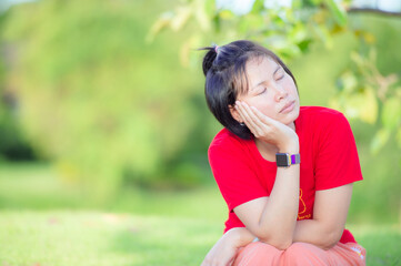
[[[273,154],[278,149],[280,153],[299,153],[299,139],[293,123],[279,123],[244,102],[237,101],[235,110],[254,135],[260,152]],[[243,204],[242,208],[240,206],[234,209],[251,233],[280,249],[292,243],[299,208],[299,164],[278,167],[268,198],[255,201],[254,204]]]

